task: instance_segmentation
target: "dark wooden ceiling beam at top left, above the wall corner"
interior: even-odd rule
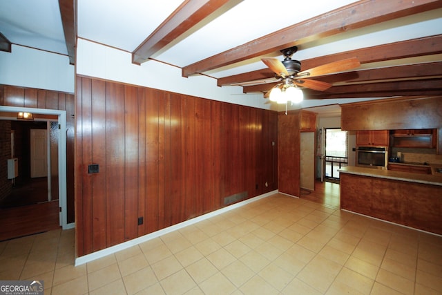
[[[68,50],[69,64],[75,64],[75,47],[77,47],[77,26],[75,23],[75,1],[59,0],[61,23],[63,23],[64,39]]]

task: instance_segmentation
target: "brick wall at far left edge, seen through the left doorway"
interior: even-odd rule
[[[0,120],[0,200],[11,192],[8,180],[8,159],[11,158],[11,122]]]

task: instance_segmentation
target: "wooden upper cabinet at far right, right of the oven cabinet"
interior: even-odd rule
[[[436,129],[400,129],[390,131],[394,147],[434,149],[437,144]]]

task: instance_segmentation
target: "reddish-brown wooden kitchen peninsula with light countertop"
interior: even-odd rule
[[[442,235],[442,173],[347,166],[340,187],[341,209]]]

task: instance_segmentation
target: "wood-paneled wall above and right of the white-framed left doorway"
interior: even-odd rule
[[[0,85],[1,106],[46,108],[66,111],[67,221],[75,222],[74,209],[74,129],[75,97],[71,93]]]

